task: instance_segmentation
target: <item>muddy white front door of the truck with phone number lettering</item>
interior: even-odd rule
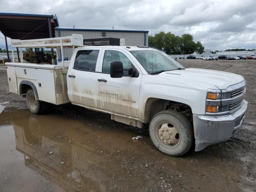
[[[134,68],[138,77],[110,77],[110,63],[120,61],[124,68]],[[99,109],[138,118],[142,72],[125,51],[118,48],[102,50],[97,74],[97,107]],[[125,71],[124,74],[128,74]]]

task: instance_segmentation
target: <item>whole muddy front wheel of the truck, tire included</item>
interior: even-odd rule
[[[158,150],[171,156],[182,156],[190,150],[194,141],[189,120],[172,110],[161,111],[152,118],[149,135]]]

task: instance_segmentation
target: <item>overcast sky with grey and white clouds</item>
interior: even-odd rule
[[[60,26],[189,33],[205,48],[256,48],[256,0],[0,0],[4,12],[56,14]],[[0,48],[5,48],[0,34]],[[10,40],[9,40],[10,41]]]

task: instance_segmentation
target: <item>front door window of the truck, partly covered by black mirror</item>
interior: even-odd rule
[[[120,61],[124,68],[131,68],[132,62],[119,51],[106,50],[103,58],[102,72],[110,74],[110,63],[112,61]],[[124,71],[124,75],[128,75],[128,71]]]

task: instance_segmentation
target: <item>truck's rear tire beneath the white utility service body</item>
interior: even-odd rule
[[[26,94],[26,103],[28,109],[33,114],[42,114],[47,109],[47,103],[40,100],[36,100],[34,91],[32,89],[29,89]]]

